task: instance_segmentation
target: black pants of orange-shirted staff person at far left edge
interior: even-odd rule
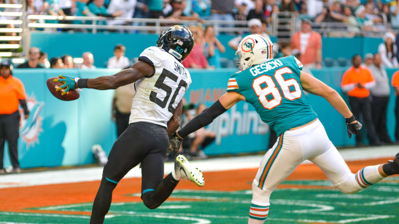
[[[20,112],[0,114],[0,169],[3,169],[4,144],[7,140],[8,151],[14,169],[20,168],[18,163],[18,137],[20,130]]]

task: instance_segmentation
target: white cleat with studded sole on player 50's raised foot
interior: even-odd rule
[[[190,180],[199,187],[205,184],[201,171],[193,167],[184,155],[178,155],[176,157],[175,173],[176,178],[179,180]]]

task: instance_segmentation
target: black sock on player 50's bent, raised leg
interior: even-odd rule
[[[172,194],[179,181],[176,181],[170,173],[162,182],[156,186],[154,191],[148,191],[141,195],[141,199],[147,208],[158,208]]]

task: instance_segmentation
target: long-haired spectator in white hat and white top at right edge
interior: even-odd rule
[[[378,45],[378,53],[381,55],[382,63],[385,67],[399,67],[399,63],[396,58],[397,46],[395,43],[395,35],[391,32],[386,32],[383,36],[384,43]]]

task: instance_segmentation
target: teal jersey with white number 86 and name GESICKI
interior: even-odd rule
[[[293,55],[271,59],[231,75],[227,91],[243,95],[279,136],[317,118],[302,90],[302,67]]]

